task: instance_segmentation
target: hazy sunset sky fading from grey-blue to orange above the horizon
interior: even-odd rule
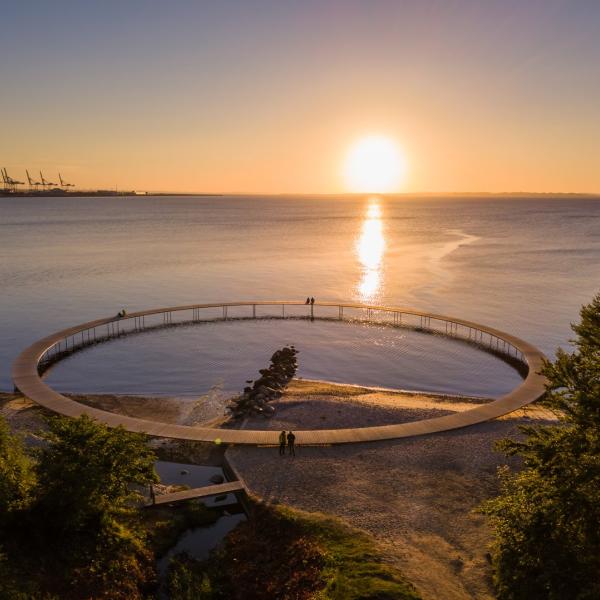
[[[600,1],[0,0],[0,166],[80,186],[600,192]]]

